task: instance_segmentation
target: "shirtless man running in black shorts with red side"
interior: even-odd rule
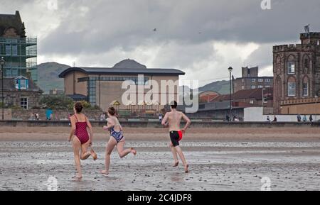
[[[176,103],[176,101],[171,103],[171,112],[166,113],[164,119],[162,120],[162,125],[165,127],[169,126],[169,133],[171,139],[170,148],[172,154],[174,155],[174,167],[178,167],[179,155],[184,166],[184,171],[188,173],[188,164],[179,146],[179,141],[182,139],[182,135],[186,133],[186,129],[191,124],[191,121],[184,113],[176,110],[177,105],[178,104]],[[180,129],[180,123],[182,118],[184,121],[186,121],[186,126],[183,129]]]

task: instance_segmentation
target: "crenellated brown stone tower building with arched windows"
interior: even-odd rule
[[[274,113],[320,113],[320,33],[301,33],[301,44],[273,47]]]

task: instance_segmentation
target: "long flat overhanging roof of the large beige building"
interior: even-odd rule
[[[60,78],[65,77],[69,72],[84,72],[86,74],[149,74],[149,75],[184,75],[185,72],[176,69],[164,68],[114,68],[114,67],[69,67],[59,74]]]

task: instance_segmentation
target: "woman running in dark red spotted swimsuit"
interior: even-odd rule
[[[82,178],[80,159],[86,160],[92,155],[93,160],[97,160],[97,154],[94,150],[87,151],[88,147],[92,145],[92,126],[88,121],[87,116],[81,113],[82,104],[76,103],[73,110],[75,114],[70,117],[71,131],[69,136],[69,142],[73,138],[73,153],[75,155],[75,167],[77,168],[78,174],[75,176],[76,179]],[[89,133],[87,133],[87,128]]]

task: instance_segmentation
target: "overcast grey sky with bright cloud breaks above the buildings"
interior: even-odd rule
[[[319,0],[270,0],[271,10],[261,1],[0,0],[0,13],[20,11],[38,37],[38,63],[112,67],[130,58],[203,85],[228,79],[230,66],[235,77],[256,65],[272,75],[273,45],[299,43],[309,23],[320,31]]]

